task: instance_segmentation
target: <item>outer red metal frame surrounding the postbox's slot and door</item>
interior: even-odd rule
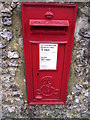
[[[49,100],[49,101],[45,101],[45,102],[38,102],[38,101],[33,101],[33,77],[32,77],[32,67],[31,67],[31,63],[32,63],[32,53],[31,53],[31,44],[33,41],[30,41],[31,43],[28,45],[28,41],[26,38],[26,30],[27,30],[27,26],[25,26],[25,16],[24,16],[24,9],[25,7],[29,7],[29,6],[54,6],[54,7],[72,7],[75,9],[75,13],[73,16],[73,29],[71,31],[71,44],[69,46],[66,45],[66,54],[65,54],[65,58],[64,58],[64,65],[63,65],[63,80],[62,80],[62,84],[61,84],[61,100],[57,101],[57,100]],[[74,39],[74,28],[75,28],[75,21],[76,21],[76,14],[77,14],[77,4],[59,4],[59,3],[35,3],[35,2],[22,2],[21,3],[21,9],[22,9],[22,25],[23,25],[23,44],[24,44],[24,59],[25,59],[25,71],[26,71],[26,85],[27,85],[27,96],[28,96],[28,104],[65,104],[66,103],[66,96],[67,96],[67,86],[68,86],[68,79],[69,79],[69,72],[70,72],[70,63],[71,63],[71,54],[68,57],[67,60],[67,56],[68,56],[68,51],[70,53],[72,53],[72,47],[73,47],[73,39]],[[30,25],[31,23],[29,22],[28,25]],[[32,23],[34,24],[34,23]],[[32,25],[31,24],[31,25]],[[35,42],[35,41],[34,41]],[[40,41],[38,42],[38,44],[40,43]],[[49,43],[49,42],[45,42],[45,43]],[[51,41],[51,43],[53,43]],[[54,42],[57,44],[67,44],[66,42],[60,41],[60,42]],[[67,51],[68,49],[68,51]]]

